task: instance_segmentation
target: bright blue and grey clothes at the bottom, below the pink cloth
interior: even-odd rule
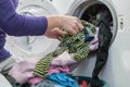
[[[64,73],[55,73],[47,77],[44,80],[36,85],[31,85],[30,87],[80,87],[80,86],[69,75]]]

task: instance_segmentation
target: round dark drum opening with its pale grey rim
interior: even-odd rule
[[[101,18],[99,17],[99,14],[104,10],[109,13],[109,27],[113,33],[113,42],[117,34],[118,22],[115,8],[109,0],[75,0],[67,14],[78,16],[79,18],[98,25],[99,20]]]

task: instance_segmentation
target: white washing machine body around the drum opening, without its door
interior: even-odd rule
[[[69,2],[68,2],[69,3]],[[130,1],[129,0],[75,0],[67,14],[90,21],[102,8],[112,15],[112,33],[108,60],[100,77],[108,87],[130,87]],[[63,3],[64,4],[64,3]],[[84,60],[74,71],[75,75],[92,76],[95,55]]]

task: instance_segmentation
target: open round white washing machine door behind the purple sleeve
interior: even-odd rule
[[[28,16],[58,14],[56,9],[47,0],[20,0],[16,11]],[[43,57],[54,50],[58,44],[57,40],[49,39],[46,36],[8,36],[6,40],[6,49],[22,59]]]

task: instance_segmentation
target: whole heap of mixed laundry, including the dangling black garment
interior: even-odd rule
[[[99,27],[81,20],[84,28],[77,35],[68,33],[61,36],[63,41],[54,51],[43,58],[16,63],[9,72],[18,84],[16,87],[83,87],[82,83],[72,77],[70,71],[74,70],[73,64],[83,61],[92,51],[96,51],[96,62],[89,84],[91,87],[102,87],[99,73],[107,61],[113,35],[107,12],[100,15]]]

